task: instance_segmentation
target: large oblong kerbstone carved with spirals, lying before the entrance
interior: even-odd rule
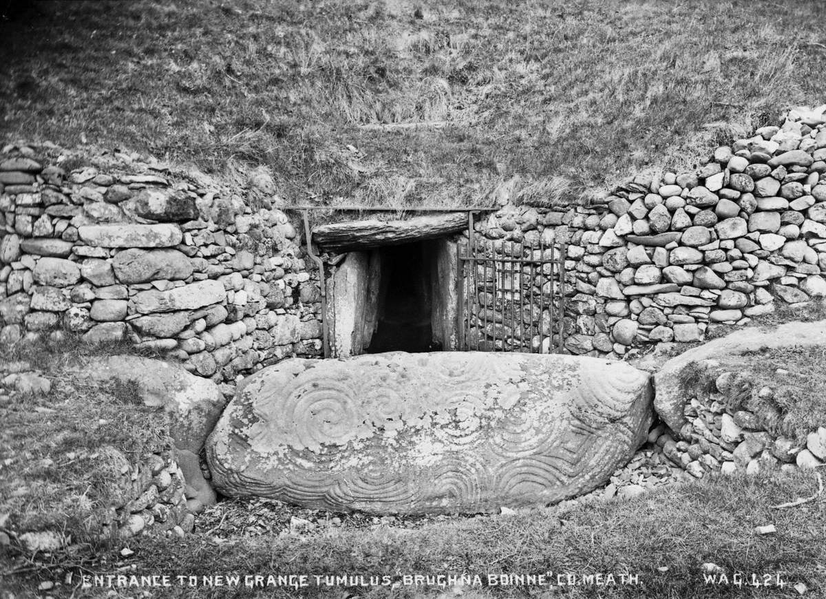
[[[606,359],[445,352],[289,359],[207,444],[216,490],[335,511],[475,513],[576,497],[627,464],[650,376]]]

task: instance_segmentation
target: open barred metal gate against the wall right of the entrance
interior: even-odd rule
[[[565,243],[478,240],[457,246],[458,349],[563,353]]]

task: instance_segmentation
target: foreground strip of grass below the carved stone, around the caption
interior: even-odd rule
[[[813,473],[773,478],[714,478],[637,497],[547,508],[515,516],[457,518],[415,530],[377,526],[369,530],[320,527],[310,535],[235,538],[217,542],[206,534],[184,540],[145,538],[129,545],[126,559],[108,556],[94,573],[119,571],[172,577],[216,574],[306,574],[309,586],[246,589],[172,587],[164,597],[796,597],[791,584],[804,582],[808,596],[826,591],[823,530],[826,503],[794,509],[772,506],[807,497],[817,488]],[[757,535],[757,525],[776,533]],[[715,563],[729,578],[742,573],[779,576],[786,587],[705,584],[702,564]],[[173,565],[172,565],[173,564]],[[667,568],[667,569],[657,569]],[[72,568],[68,568],[71,570]],[[596,587],[316,586],[313,575],[539,574],[552,572],[638,574],[637,585]],[[63,580],[64,569],[9,578],[10,588]],[[776,578],[773,578],[776,579]],[[75,578],[77,580],[77,578]],[[173,578],[174,580],[174,578]],[[242,578],[243,580],[243,578]],[[70,588],[64,587],[68,596]],[[444,593],[444,594],[443,594]]]

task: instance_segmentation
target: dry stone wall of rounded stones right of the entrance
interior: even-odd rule
[[[695,172],[639,176],[588,206],[507,204],[477,223],[474,242],[488,256],[534,258],[540,244],[555,246],[544,250],[550,258],[567,243],[565,349],[572,354],[620,358],[635,345],[704,340],[715,325],[822,298],[824,109],[795,109],[780,126],[717,148]],[[523,277],[521,289],[500,278],[496,297],[490,268],[479,267],[477,280],[472,334],[480,347],[496,335],[502,348],[520,349],[520,326],[499,323],[513,302],[519,314],[531,287],[539,297],[557,284],[550,270]],[[521,327],[553,333],[551,312],[540,316],[535,303]],[[522,350],[557,344],[555,336],[525,338]]]

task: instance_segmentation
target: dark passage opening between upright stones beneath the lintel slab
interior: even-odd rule
[[[426,241],[391,245],[380,253],[376,329],[365,352],[423,352],[433,341],[434,252]]]

